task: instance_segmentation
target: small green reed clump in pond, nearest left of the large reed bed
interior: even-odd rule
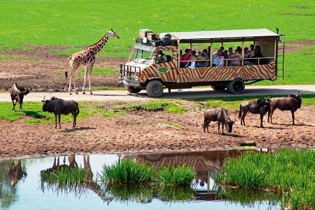
[[[190,186],[196,177],[196,171],[190,166],[167,166],[157,169],[157,182],[168,185]]]

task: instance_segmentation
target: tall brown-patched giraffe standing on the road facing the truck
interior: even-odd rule
[[[89,91],[90,91],[90,94],[93,94],[92,89],[91,89],[91,75],[92,75],[93,65],[95,63],[95,55],[101,51],[101,49],[104,47],[104,45],[108,41],[109,37],[116,37],[117,39],[119,39],[116,32],[113,31],[113,29],[111,29],[111,31],[107,31],[105,36],[102,37],[97,43],[86,47],[84,50],[80,52],[73,53],[67,59],[66,72],[65,72],[66,79],[68,77],[68,62],[71,67],[70,82],[69,82],[69,95],[72,95],[71,94],[72,82],[73,82],[74,91],[76,94],[78,94],[77,88],[76,88],[76,82],[75,82],[75,73],[80,65],[83,65],[83,66],[85,65],[85,74],[84,74],[82,94],[85,94],[85,82],[86,82],[86,77],[88,75],[89,75]]]

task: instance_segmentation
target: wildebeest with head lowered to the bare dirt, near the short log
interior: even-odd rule
[[[203,121],[203,132],[207,131],[209,133],[208,126],[211,121],[218,121],[218,134],[220,134],[220,123],[222,123],[222,135],[224,135],[224,125],[226,132],[231,133],[232,132],[232,126],[233,123],[236,121],[232,121],[230,119],[228,111],[224,108],[217,108],[217,109],[209,109],[204,112],[204,121]]]

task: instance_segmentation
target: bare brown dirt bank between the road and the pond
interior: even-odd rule
[[[25,124],[23,121],[28,118],[25,116],[15,122],[0,120],[0,159],[71,153],[235,149],[238,142],[253,140],[260,148],[313,147],[314,110],[314,106],[302,106],[296,111],[296,126],[291,125],[289,111],[277,110],[274,124],[268,123],[265,116],[265,128],[259,127],[259,115],[253,114],[248,114],[246,126],[241,126],[234,111],[230,116],[237,121],[232,133],[225,132],[224,136],[218,135],[217,122],[210,124],[210,133],[203,132],[203,110],[186,114],[134,111],[126,116],[91,116],[77,121],[77,128],[71,127],[72,122],[62,123],[62,129],[54,128],[54,124]]]

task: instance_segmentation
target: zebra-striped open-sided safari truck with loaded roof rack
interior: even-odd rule
[[[134,38],[135,47],[131,53],[132,55],[135,52],[133,60],[131,61],[130,55],[126,64],[120,64],[118,82],[125,84],[129,93],[139,93],[145,89],[153,98],[160,97],[164,88],[168,88],[170,93],[171,89],[204,85],[210,85],[219,91],[227,89],[231,94],[242,94],[245,85],[262,80],[276,81],[278,77],[284,78],[284,36],[278,33],[278,29],[277,33],[274,33],[265,28],[160,34],[155,34],[149,29],[141,29],[140,36]],[[236,60],[230,58],[224,59],[224,66],[213,66],[212,55],[216,51],[213,43],[221,43],[227,50],[231,42],[240,43],[242,46],[240,54],[243,58],[244,48],[249,47],[245,46],[245,42],[259,45],[262,56],[255,59],[255,65],[244,65],[242,60],[241,65],[226,66],[229,60]],[[180,63],[184,61],[181,61],[178,55],[184,43],[186,46],[189,44],[190,49],[193,44],[209,43],[207,50],[209,60],[200,60],[209,61],[209,65],[194,69],[180,68],[183,66]]]

